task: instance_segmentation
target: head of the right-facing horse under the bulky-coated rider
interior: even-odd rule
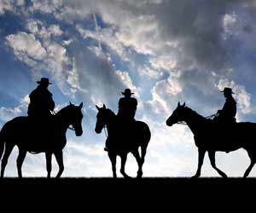
[[[81,136],[83,134],[83,128],[82,128],[82,119],[83,119],[83,113],[82,113],[82,107],[83,102],[79,106],[75,106],[72,103],[69,103],[69,120],[70,124],[73,126],[73,129],[77,136]]]

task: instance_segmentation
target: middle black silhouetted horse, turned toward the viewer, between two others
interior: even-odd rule
[[[151,133],[148,125],[137,121],[132,124],[132,127],[119,124],[117,116],[105,105],[102,108],[97,107],[98,113],[96,115],[97,134],[102,132],[102,129],[107,126],[108,130],[108,157],[112,163],[113,177],[116,178],[116,157],[121,158],[121,174],[124,177],[130,177],[125,174],[125,162],[127,154],[131,152],[137,160],[138,170],[137,177],[143,176],[143,163],[147,152],[148,142],[150,141]],[[138,151],[141,147],[141,157]]]

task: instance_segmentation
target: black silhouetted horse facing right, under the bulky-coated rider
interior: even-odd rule
[[[19,177],[22,177],[21,166],[27,152],[45,153],[47,177],[50,177],[51,157],[54,154],[59,164],[59,172],[56,177],[60,177],[64,170],[62,149],[67,143],[67,128],[72,125],[77,136],[83,134],[82,107],[83,103],[79,107],[70,103],[67,107],[57,112],[47,124],[44,122],[40,124],[40,120],[32,120],[29,117],[17,117],[4,124],[0,132],[0,158],[3,155],[1,177],[3,177],[9,155],[15,145],[19,148],[19,156],[17,158]]]

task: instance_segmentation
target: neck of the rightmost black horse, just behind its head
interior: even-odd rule
[[[200,129],[201,124],[205,121],[206,118],[203,118],[200,114],[197,112],[188,109],[190,112],[186,116],[185,122],[188,124],[189,129],[193,132],[195,135],[198,130]]]

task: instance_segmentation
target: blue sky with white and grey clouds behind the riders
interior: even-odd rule
[[[26,115],[36,82],[49,78],[55,111],[84,102],[84,134],[67,131],[62,176],[112,176],[106,136],[94,131],[95,105],[117,112],[130,88],[136,118],[152,133],[144,176],[193,176],[193,135],[166,119],[178,101],[211,115],[224,104],[220,90],[231,87],[237,121],[256,122],[255,20],[254,0],[0,0],[0,126]],[[17,148],[6,176],[17,176],[16,157]],[[249,158],[239,149],[217,153],[216,164],[242,176]],[[53,176],[57,169],[53,159]],[[46,176],[44,154],[27,154],[22,170]],[[126,171],[136,176],[131,154]],[[201,176],[218,176],[207,155]]]

